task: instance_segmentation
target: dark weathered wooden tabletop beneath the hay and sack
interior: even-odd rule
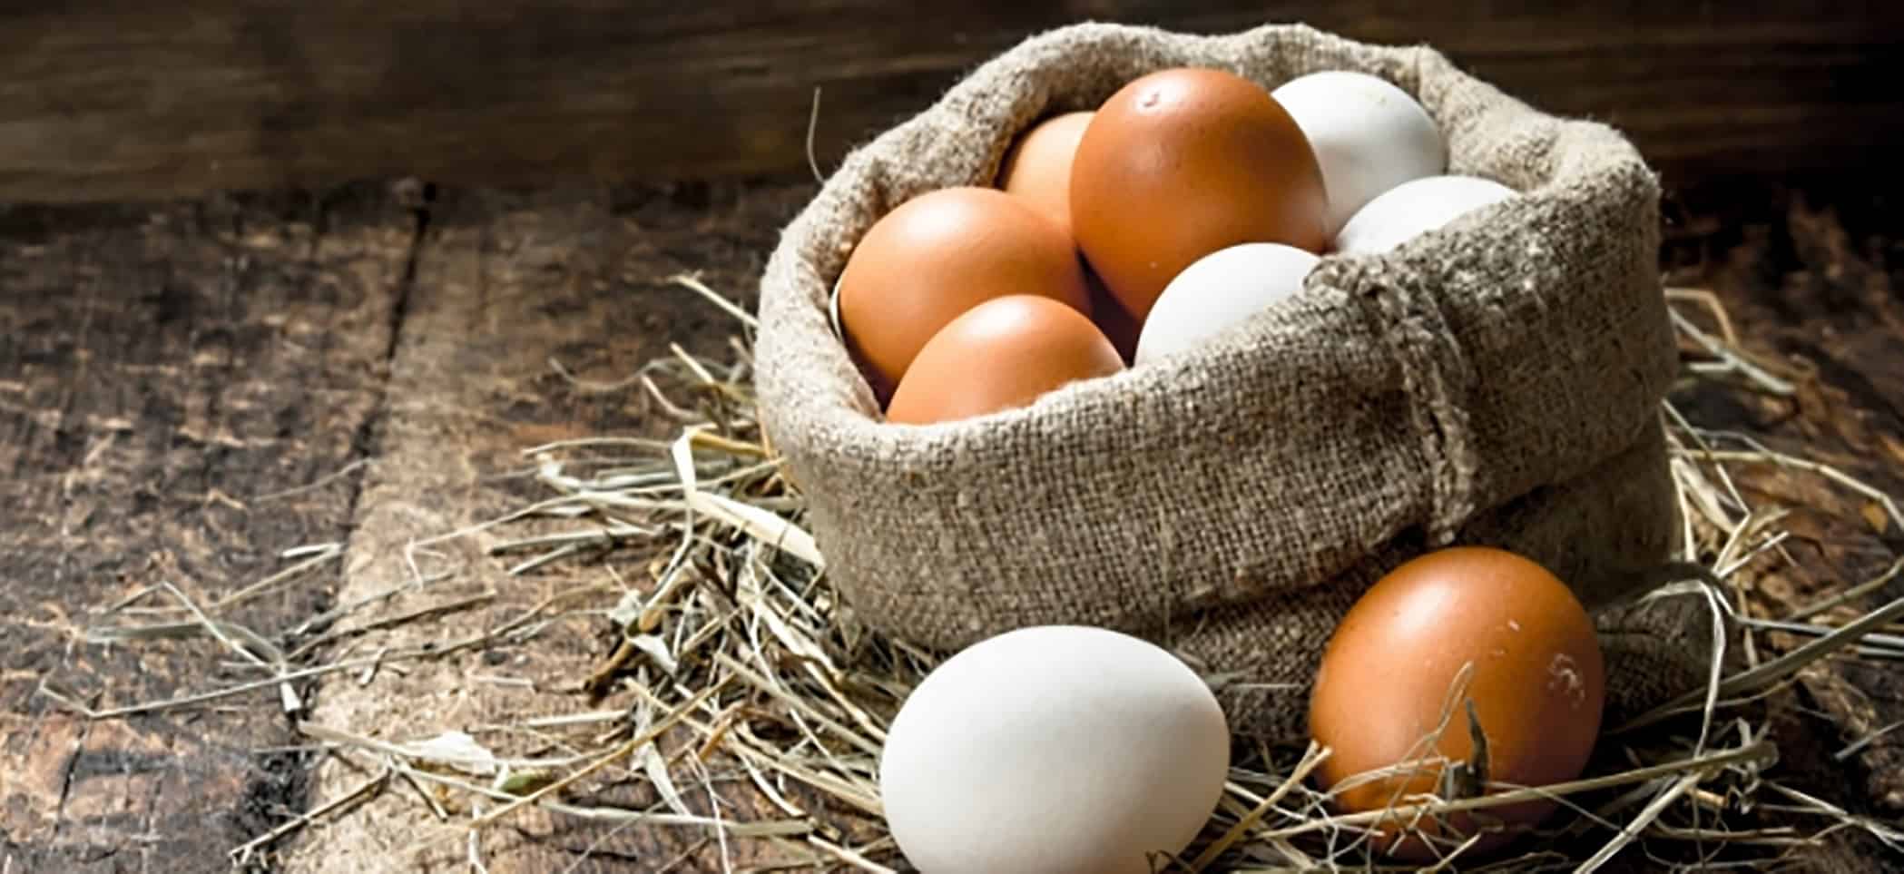
[[[520,467],[524,446],[666,434],[672,423],[640,392],[586,381],[615,381],[670,341],[718,352],[725,316],[666,278],[697,270],[750,303],[777,228],[811,190],[800,181],[539,194],[358,185],[0,211],[0,611],[13,617],[0,625],[0,872],[227,868],[230,847],[356,783],[335,765],[314,777],[308,752],[272,750],[305,743],[270,705],[274,689],[86,722],[42,684],[99,703],[190,693],[213,649],[88,644],[86,611],[160,583],[215,600],[282,567],[282,550],[348,543],[314,583],[234,613],[251,628],[286,628],[388,581],[381,548],[520,501],[520,487],[482,474]],[[1750,348],[1815,375],[1795,400],[1689,388],[1676,402],[1702,425],[1803,446],[1904,493],[1900,194],[1824,183],[1677,192],[1668,276],[1712,288]],[[1748,487],[1801,503],[1792,489],[1811,486],[1773,470]],[[1904,548],[1894,527],[1797,520],[1795,531],[1797,564],[1755,581],[1769,606],[1875,575]],[[493,625],[543,594],[518,585],[472,607],[470,623]],[[1894,583],[1870,600],[1898,594]],[[446,670],[465,687],[487,666],[545,684],[539,699],[499,687],[428,705],[466,722],[562,699],[554,672],[600,647],[579,625],[474,666],[297,687],[312,701],[303,718],[324,722],[423,712],[406,699],[426,699]],[[1792,695],[1803,708],[1778,729],[1780,767],[1896,821],[1904,733],[1832,758],[1845,739],[1904,718],[1896,674],[1828,663]],[[364,853],[369,868],[402,840],[381,828],[303,834],[259,866],[348,870],[335,859]],[[602,842],[546,823],[514,836],[491,847],[491,870],[550,870],[590,845],[577,870],[653,870],[693,849],[678,834]],[[1858,832],[1803,861],[1904,864]],[[1645,866],[1634,853],[1626,863]]]

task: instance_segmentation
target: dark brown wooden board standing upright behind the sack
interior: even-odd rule
[[[805,171],[971,65],[1083,19],[1224,32],[1304,21],[1426,42],[1672,179],[1887,168],[1904,6],[95,0],[0,8],[0,202]]]

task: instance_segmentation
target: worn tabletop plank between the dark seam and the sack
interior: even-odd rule
[[[447,194],[432,209],[390,366],[388,415],[375,432],[377,467],[364,486],[339,600],[366,598],[409,579],[409,543],[426,543],[421,573],[449,569],[453,577],[419,585],[350,623],[484,592],[493,592],[493,600],[457,613],[455,623],[383,630],[377,647],[444,644],[455,636],[451,628],[468,634],[499,628],[560,592],[604,583],[609,588],[569,606],[524,642],[392,666],[369,684],[331,680],[314,722],[387,743],[457,729],[505,756],[548,754],[533,743],[518,748],[522,735],[486,725],[634,703],[628,693],[590,701],[579,682],[613,642],[604,638],[600,611],[615,604],[619,581],[653,583],[653,550],[556,562],[512,577],[506,567],[533,552],[489,556],[486,546],[524,535],[522,526],[436,539],[546,497],[522,476],[501,476],[529,465],[522,449],[605,434],[674,436],[678,423],[657,415],[638,385],[571,385],[550,362],[602,385],[626,381],[642,364],[664,356],[672,341],[699,354],[722,354],[737,326],[712,305],[668,286],[668,276],[701,270],[704,282],[752,307],[764,253],[809,194],[809,187],[731,185],[522,198],[468,192]],[[362,647],[352,653],[367,655]],[[364,758],[326,762],[312,804],[347,794],[366,779],[366,767],[373,765]],[[596,788],[600,804],[640,807],[655,800],[645,785]],[[468,868],[468,844],[453,834],[459,821],[468,823],[468,796],[447,798],[455,819],[442,823],[415,792],[402,786],[385,792],[322,832],[301,836],[286,851],[284,870]],[[704,798],[695,800],[697,809],[704,805]],[[487,830],[476,853],[497,874],[653,870],[703,834],[613,828],[527,811]],[[419,849],[428,838],[442,840]]]

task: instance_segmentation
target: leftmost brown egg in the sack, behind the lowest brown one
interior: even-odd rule
[[[883,215],[853,248],[840,328],[885,398],[941,328],[1003,295],[1091,312],[1076,246],[1051,219],[998,189],[941,189]]]

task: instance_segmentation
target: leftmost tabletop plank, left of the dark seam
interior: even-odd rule
[[[299,758],[253,752],[289,739],[274,695],[88,722],[38,689],[232,682],[209,642],[86,644],[88,611],[160,583],[209,602],[348,533],[356,482],[329,476],[360,457],[407,248],[379,192],[0,215],[0,868],[228,870],[303,805]],[[333,579],[223,615],[268,634]]]

